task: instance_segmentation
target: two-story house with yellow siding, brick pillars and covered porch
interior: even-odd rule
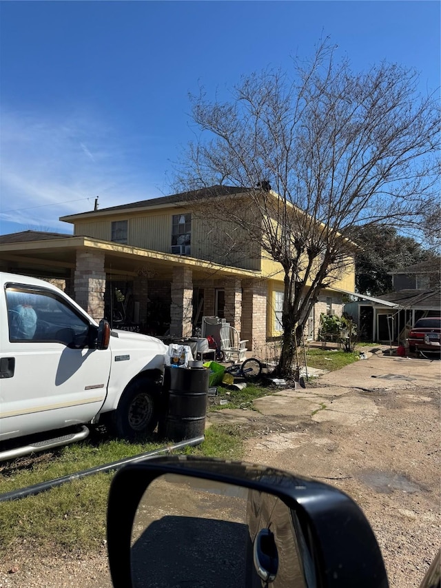
[[[215,188],[219,197],[247,193]],[[61,217],[74,225],[73,235],[0,236],[0,268],[64,280],[67,292],[95,318],[112,320],[114,310],[124,310],[127,322],[151,334],[168,330],[188,337],[203,315],[225,318],[248,340],[248,349],[266,357],[267,345],[281,334],[283,272],[255,244],[244,251],[238,245],[244,234],[227,219],[210,222],[212,197],[210,189],[197,190]],[[353,292],[354,284],[349,258],[345,272],[320,293],[309,316],[310,338],[321,312],[342,313],[340,290]]]

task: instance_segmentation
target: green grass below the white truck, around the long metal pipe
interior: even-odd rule
[[[78,443],[55,452],[0,464],[0,494],[61,478],[153,451],[161,443],[130,444],[107,440],[96,445]],[[210,457],[240,459],[242,443],[233,429],[212,425],[205,441],[182,452]],[[44,491],[37,496],[6,501],[0,505],[0,545],[24,547],[45,554],[81,554],[103,549],[107,495],[114,472],[94,474]]]

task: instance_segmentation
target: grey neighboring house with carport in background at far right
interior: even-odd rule
[[[369,341],[404,343],[418,318],[441,315],[440,265],[422,261],[389,274],[394,292],[369,303],[347,303],[345,312],[356,319]]]

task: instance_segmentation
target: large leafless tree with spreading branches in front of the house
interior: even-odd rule
[[[244,77],[227,102],[190,97],[201,134],[177,174],[186,190],[244,188],[212,199],[209,214],[280,263],[283,376],[320,290],[352,263],[355,227],[418,227],[439,180],[438,103],[417,93],[416,72],[380,63],[354,73],[328,41],[293,65]]]

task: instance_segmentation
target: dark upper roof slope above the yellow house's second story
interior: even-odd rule
[[[131,202],[129,204],[121,204],[119,206],[110,206],[107,208],[100,208],[99,210],[92,210],[89,212],[80,212],[79,214],[69,214],[68,216],[61,216],[60,221],[72,222],[81,216],[90,216],[90,214],[103,214],[107,212],[121,212],[125,210],[136,210],[142,208],[150,208],[154,206],[172,205],[184,203],[187,201],[205,200],[213,198],[214,196],[229,196],[230,194],[243,194],[250,192],[252,188],[235,187],[225,185],[214,185],[210,187],[203,187],[199,190],[191,190],[187,192],[180,192],[178,194],[171,194],[170,196],[160,196],[159,198],[151,198],[148,200],[140,200],[138,202]]]

